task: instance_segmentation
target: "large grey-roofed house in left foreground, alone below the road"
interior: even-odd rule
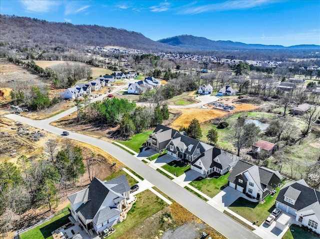
[[[71,216],[84,230],[97,235],[120,222],[122,207],[127,206],[130,187],[124,175],[102,182],[93,178],[89,187],[67,196]]]

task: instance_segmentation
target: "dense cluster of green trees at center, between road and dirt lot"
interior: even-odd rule
[[[86,104],[83,102],[83,104]],[[127,138],[150,127],[161,124],[169,118],[166,104],[156,104],[152,107],[137,107],[134,102],[126,99],[104,99],[90,103],[78,111],[78,119],[99,125],[119,126],[115,134]],[[82,110],[84,109],[84,111]],[[79,117],[79,114],[82,116]]]

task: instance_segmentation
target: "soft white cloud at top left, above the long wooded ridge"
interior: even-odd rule
[[[25,11],[27,12],[37,12],[37,13],[44,13],[51,11],[52,8],[58,6],[60,3],[57,1],[51,0],[20,0]]]

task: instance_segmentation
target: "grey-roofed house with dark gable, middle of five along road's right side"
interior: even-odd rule
[[[203,156],[191,163],[191,169],[207,177],[211,173],[224,175],[230,172],[240,157],[221,149],[211,147],[204,151]]]

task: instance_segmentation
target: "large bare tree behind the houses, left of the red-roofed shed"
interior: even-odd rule
[[[241,148],[252,145],[260,132],[260,129],[254,123],[245,124],[245,120],[241,116],[233,125],[233,130],[235,135],[232,137],[232,141],[237,149],[237,156],[240,156]]]

